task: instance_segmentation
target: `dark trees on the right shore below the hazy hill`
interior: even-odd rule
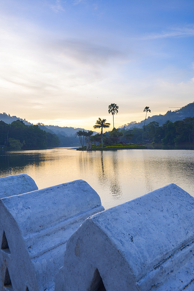
[[[120,138],[123,142],[126,141],[126,135],[131,134],[130,142],[132,143],[191,143],[194,141],[194,117],[186,117],[175,122],[167,120],[162,126],[159,126],[158,122],[152,121],[143,126],[143,129],[120,129],[119,131],[123,134]]]

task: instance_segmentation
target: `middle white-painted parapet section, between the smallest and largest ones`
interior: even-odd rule
[[[83,180],[2,198],[0,290],[9,282],[8,272],[13,291],[53,290],[67,239],[102,210],[100,197]]]

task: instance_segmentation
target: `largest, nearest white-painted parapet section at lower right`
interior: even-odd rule
[[[194,198],[170,184],[88,218],[55,291],[100,290],[193,291]]]

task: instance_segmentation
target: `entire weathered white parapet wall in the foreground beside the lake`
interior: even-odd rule
[[[0,178],[0,290],[194,290],[192,196],[170,184],[102,210],[83,180]]]

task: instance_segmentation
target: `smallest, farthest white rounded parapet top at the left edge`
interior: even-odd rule
[[[34,180],[26,175],[12,175],[0,178],[0,198],[37,190]]]

